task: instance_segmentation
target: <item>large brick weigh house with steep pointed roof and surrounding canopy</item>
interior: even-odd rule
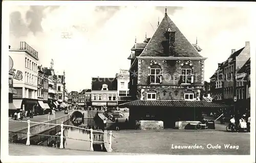
[[[137,41],[137,40],[136,40]],[[204,89],[204,61],[196,49],[165,13],[152,38],[135,42],[131,60],[129,121],[163,121],[165,128],[177,121],[201,119],[203,109],[227,107],[201,101]]]

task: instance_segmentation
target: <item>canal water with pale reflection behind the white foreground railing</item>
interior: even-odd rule
[[[77,121],[71,118],[70,120],[63,123],[64,125],[71,125],[80,128],[86,129],[99,129],[97,127],[95,121],[93,119],[84,119],[80,123],[77,124]],[[90,131],[86,131],[83,129],[78,129],[74,127],[67,127],[64,126],[64,133],[63,135],[66,138],[63,138],[63,147],[66,149],[74,149],[74,150],[90,150]],[[33,135],[33,133],[31,133]],[[47,136],[51,135],[51,136]],[[38,145],[38,146],[48,146],[48,147],[55,147],[59,148],[60,146],[60,126],[56,126],[48,131],[40,133],[40,135],[33,135],[30,137],[30,144],[31,145]],[[26,144],[26,139],[22,141],[17,141],[15,143],[22,143]]]

